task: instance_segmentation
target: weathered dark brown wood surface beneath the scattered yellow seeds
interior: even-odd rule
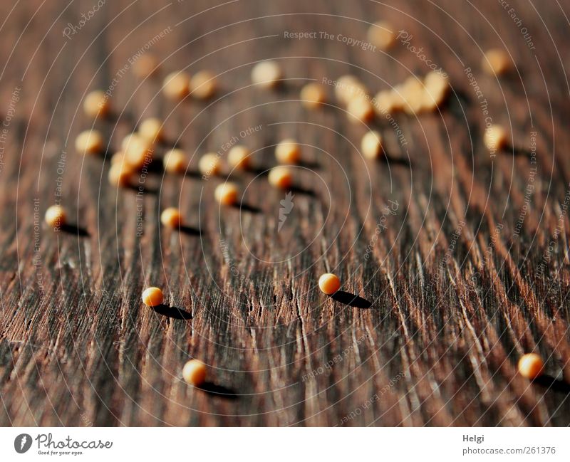
[[[0,424],[569,425],[570,5],[510,3],[1,2]],[[408,40],[348,43],[378,19]],[[482,73],[492,47],[517,70]],[[133,75],[141,50],[156,78]],[[266,58],[285,73],[274,92],[250,86]],[[388,162],[362,159],[366,127],[334,100],[298,101],[311,79],[354,73],[375,93],[429,65],[453,93],[440,113],[373,122]],[[167,102],[161,79],[180,68],[213,70],[217,98]],[[108,120],[83,115],[95,88]],[[110,187],[110,154],[147,116],[165,120],[157,157],[180,145],[188,174],[155,162],[140,191]],[[513,149],[489,155],[490,121]],[[106,157],[73,148],[93,126]],[[290,207],[265,170],[284,137],[304,159],[279,229]],[[220,209],[229,171],[202,179],[197,159],[237,141],[257,166],[230,175],[242,207]],[[57,201],[60,233],[43,224]],[[160,226],[166,206],[186,229]],[[326,271],[343,280],[334,299]],[[165,306],[140,303],[147,285]],[[534,383],[516,369],[531,351],[546,362]],[[204,389],[181,380],[190,357],[209,366]]]

